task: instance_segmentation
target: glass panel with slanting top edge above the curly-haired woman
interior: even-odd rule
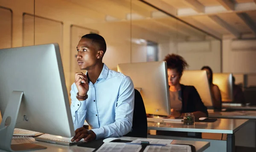
[[[175,53],[185,58],[191,70],[207,65],[213,72],[221,72],[220,40],[141,1],[132,1],[131,8],[132,62],[155,61],[148,59],[145,40],[158,44],[159,60],[166,54]]]

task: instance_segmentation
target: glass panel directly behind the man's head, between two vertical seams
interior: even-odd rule
[[[84,34],[99,33],[105,38],[107,51],[103,62],[108,68],[116,70],[118,63],[131,61],[130,5],[130,0],[35,0],[36,16],[63,22],[61,55],[68,92],[75,72],[81,71],[77,65],[76,46]],[[37,37],[41,24],[35,21],[36,42],[45,39],[57,42],[56,38],[53,40],[52,31],[38,31],[47,34],[44,38]]]

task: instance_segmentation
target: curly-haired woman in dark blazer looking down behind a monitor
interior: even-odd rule
[[[206,106],[202,102],[194,86],[180,84],[184,69],[188,66],[186,61],[177,54],[168,54],[164,59],[167,63],[171,113],[169,117],[183,118],[185,113],[192,112],[195,119],[208,117]]]

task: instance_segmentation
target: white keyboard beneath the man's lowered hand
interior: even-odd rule
[[[55,143],[55,144],[60,144],[60,145],[65,145],[65,146],[72,146],[78,143],[84,143],[84,139],[81,139],[81,141],[79,142],[72,142],[71,138],[67,138],[67,137],[61,137],[61,136],[55,136],[55,135],[49,135],[49,134],[44,134],[41,136],[38,136],[35,138],[36,141],[43,141],[43,142],[47,142],[47,143]]]

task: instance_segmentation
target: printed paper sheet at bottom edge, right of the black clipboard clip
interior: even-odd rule
[[[192,152],[189,145],[146,146],[143,152]]]

